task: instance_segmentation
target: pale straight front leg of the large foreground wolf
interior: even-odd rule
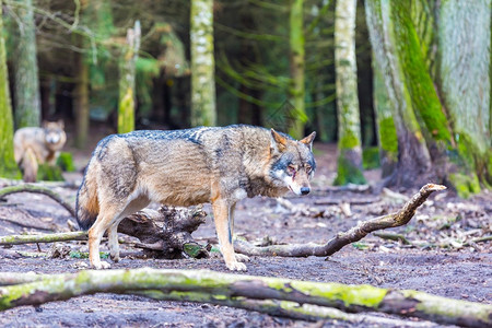
[[[232,225],[232,209],[224,199],[216,199],[212,203],[213,219],[215,221],[216,236],[221,247],[222,256],[225,260],[225,266],[230,270],[246,271],[246,265],[237,261],[236,254],[232,244],[233,230]]]

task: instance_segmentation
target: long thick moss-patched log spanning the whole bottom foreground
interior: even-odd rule
[[[11,273],[22,276],[23,273]],[[5,273],[0,278],[5,279]],[[0,288],[0,311],[40,305],[95,293],[142,294],[173,301],[224,304],[224,300],[279,300],[336,307],[342,311],[383,312],[468,327],[492,325],[492,305],[459,301],[411,290],[371,285],[307,282],[280,278],[241,276],[208,270],[108,270],[39,276],[38,281]],[[15,279],[20,279],[19,277]],[[148,292],[145,292],[148,291]],[[157,291],[157,292],[151,292]],[[194,296],[197,296],[194,298]],[[242,302],[235,302],[242,307]],[[283,302],[280,303],[282,306]],[[229,304],[233,305],[233,303]],[[298,307],[289,304],[290,307]],[[286,305],[285,305],[286,306]],[[298,308],[297,308],[298,309]],[[304,308],[305,309],[305,308]],[[279,314],[278,314],[279,315]],[[280,315],[283,315],[280,313]],[[315,314],[311,313],[313,317]]]

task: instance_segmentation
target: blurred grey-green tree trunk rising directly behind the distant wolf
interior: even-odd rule
[[[38,127],[40,125],[39,80],[36,59],[36,32],[32,0],[17,0],[14,43],[14,107],[15,126]],[[20,24],[20,25],[19,25]]]

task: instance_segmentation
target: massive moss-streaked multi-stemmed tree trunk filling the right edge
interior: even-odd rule
[[[388,0],[365,4],[375,65],[395,108],[399,154],[389,184],[433,178],[464,197],[479,191],[479,177],[487,185],[492,171],[490,1],[434,1],[432,11]]]

